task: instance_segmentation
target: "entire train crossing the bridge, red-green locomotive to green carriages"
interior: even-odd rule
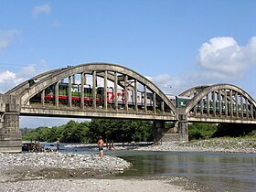
[[[97,87],[96,88],[96,104],[103,106],[104,103],[104,87]],[[109,105],[115,105],[115,92],[114,89],[107,88],[107,103]],[[117,89],[117,106],[119,108],[123,108],[125,105],[125,90],[123,89]],[[133,107],[135,105],[135,94],[134,91],[127,91],[126,93],[127,97],[127,102],[129,107]],[[166,97],[173,103],[173,105],[176,108],[182,109],[187,106],[187,104],[191,101],[190,97],[182,97],[182,96],[175,96],[175,95],[166,95]],[[72,84],[71,85],[71,101],[72,103],[75,104],[80,104],[80,98],[81,98],[81,86],[80,84]],[[32,102],[39,102],[41,101],[41,95],[38,93],[36,96],[34,96],[30,101]],[[46,102],[54,102],[55,101],[55,85],[49,86],[45,90],[45,101]],[[69,104],[69,83],[65,82],[59,82],[59,102],[62,104]],[[92,93],[92,88],[91,85],[85,85],[84,87],[84,103],[85,105],[92,105],[93,104],[93,93]],[[208,106],[209,103],[209,106]],[[148,109],[153,109],[153,93],[152,92],[146,92],[146,106]],[[231,113],[231,105],[232,106],[232,111],[233,115],[236,115],[236,102],[230,102],[227,101],[227,108],[228,108],[228,113]],[[243,112],[241,112],[241,105],[243,108]],[[140,109],[144,109],[144,91],[137,91],[137,106]],[[155,101],[155,107],[156,109],[160,109],[161,103],[159,100]],[[214,112],[214,101],[209,100],[207,101],[206,99],[203,99],[203,103],[197,102],[196,106],[196,112],[209,112],[213,113]],[[201,111],[201,107],[203,107],[203,110]],[[248,103],[248,112],[249,115],[251,115],[251,103]],[[238,103],[238,111],[239,114],[246,115],[246,104],[245,103]],[[195,112],[195,110],[191,111],[192,113]],[[221,109],[219,109],[219,101],[215,101],[215,112],[216,113],[223,113],[225,114],[226,112],[226,103],[225,101],[221,101]]]

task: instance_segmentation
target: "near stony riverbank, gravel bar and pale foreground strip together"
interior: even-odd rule
[[[185,177],[115,178],[122,158],[53,153],[0,154],[1,191],[207,191]]]

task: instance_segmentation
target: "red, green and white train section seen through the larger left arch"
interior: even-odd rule
[[[107,88],[107,102],[110,105],[115,104],[115,92],[114,89]],[[96,104],[102,105],[104,103],[104,88],[96,88]],[[123,89],[117,89],[117,105],[122,108],[125,105],[125,91]],[[135,104],[135,94],[134,91],[127,91],[126,93],[128,106],[133,106]],[[80,84],[71,85],[71,101],[73,103],[79,104],[81,98],[81,86]],[[41,95],[38,93],[30,101],[39,102],[41,101]],[[45,101],[54,102],[55,101],[55,85],[50,85],[45,90]],[[59,82],[59,102],[62,104],[69,103],[69,83]],[[84,87],[84,103],[86,105],[93,104],[93,91],[91,85],[85,85]],[[138,107],[144,108],[144,92],[137,91],[137,105]],[[153,107],[153,93],[146,92],[146,106],[148,108]],[[160,106],[160,101],[156,101],[156,107]]]

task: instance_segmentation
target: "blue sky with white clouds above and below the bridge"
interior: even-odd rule
[[[108,62],[166,94],[230,83],[256,100],[255,10],[254,0],[1,0],[0,93],[50,69]]]

